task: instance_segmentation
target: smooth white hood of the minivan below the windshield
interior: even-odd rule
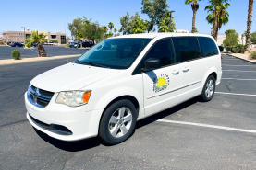
[[[118,72],[115,69],[67,63],[37,75],[31,85],[51,92],[79,90]]]

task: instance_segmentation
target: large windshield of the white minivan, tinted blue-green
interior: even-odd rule
[[[127,69],[152,39],[108,39],[85,52],[76,63],[102,65],[113,69]]]

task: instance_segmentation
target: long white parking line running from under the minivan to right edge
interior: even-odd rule
[[[169,120],[169,119],[147,119],[147,120],[165,122],[165,123],[175,123],[175,124],[182,124],[182,125],[199,126],[199,127],[213,128],[213,129],[219,129],[219,130],[232,130],[232,131],[256,133],[256,130],[243,130],[243,129],[225,127],[225,126],[207,125],[207,124],[192,123],[192,122],[186,122],[186,121],[175,121],[175,120]]]

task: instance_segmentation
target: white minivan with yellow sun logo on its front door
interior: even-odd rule
[[[213,37],[150,33],[106,39],[75,62],[39,74],[25,94],[27,118],[63,141],[127,140],[136,122],[189,98],[213,98],[222,57]]]

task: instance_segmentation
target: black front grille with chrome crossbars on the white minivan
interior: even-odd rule
[[[54,95],[54,92],[49,92],[33,85],[30,85],[28,89],[28,100],[31,104],[39,108],[45,108]]]

